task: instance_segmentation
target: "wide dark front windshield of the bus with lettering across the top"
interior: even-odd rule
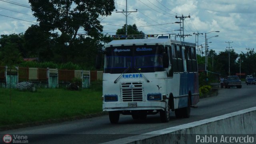
[[[104,72],[120,74],[128,67],[126,73],[163,71],[163,51],[162,45],[108,47]]]

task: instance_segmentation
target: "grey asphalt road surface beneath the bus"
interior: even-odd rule
[[[87,118],[59,124],[49,124],[0,132],[28,136],[29,143],[101,143],[212,118],[256,106],[256,86],[242,84],[242,88],[218,90],[218,96],[200,99],[198,108],[191,109],[190,118],[177,119],[172,112],[168,123],[161,123],[159,114],[146,120],[133,120],[120,115],[118,124],[110,124],[108,116]],[[0,140],[1,144],[2,140]]]

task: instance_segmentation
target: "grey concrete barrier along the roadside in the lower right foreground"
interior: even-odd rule
[[[230,138],[232,142],[239,142],[240,138],[256,143],[256,107],[104,144],[198,144],[207,140],[222,143],[231,142]]]

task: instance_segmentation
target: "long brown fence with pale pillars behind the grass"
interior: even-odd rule
[[[72,82],[81,82],[82,88],[89,88],[90,82],[102,80],[102,71],[90,70],[58,70],[57,68],[22,68],[8,70],[0,66],[0,87],[14,87],[18,82],[33,82],[38,87],[58,88],[68,86]],[[8,82],[8,81],[12,82]],[[10,86],[8,86],[10,85]]]

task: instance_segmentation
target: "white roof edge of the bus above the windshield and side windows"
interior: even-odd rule
[[[148,38],[148,39],[129,39],[129,40],[112,40],[108,44],[106,44],[106,48],[112,46],[132,46],[132,45],[171,45],[171,43],[185,43],[185,44],[192,44],[195,45],[194,43],[189,43],[189,42],[180,42],[177,40],[171,40],[169,38]]]

